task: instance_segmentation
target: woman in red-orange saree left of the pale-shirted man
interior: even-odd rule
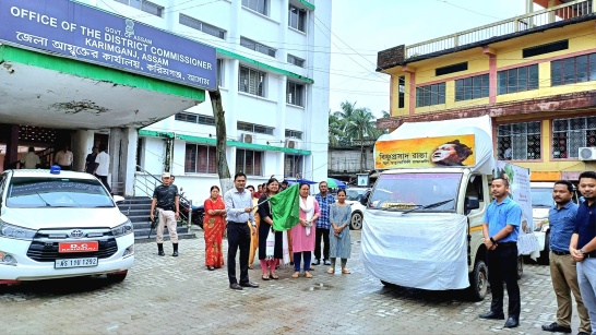
[[[208,271],[224,266],[222,241],[226,229],[226,205],[219,195],[219,188],[211,187],[211,196],[205,200],[205,265]]]

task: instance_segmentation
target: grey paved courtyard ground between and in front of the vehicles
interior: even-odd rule
[[[202,230],[182,240],[178,259],[156,255],[154,243],[136,246],[128,278],[109,285],[103,278],[25,283],[0,292],[1,333],[8,334],[547,334],[556,301],[547,266],[526,265],[520,280],[521,326],[478,320],[490,299],[470,302],[462,292],[385,288],[363,272],[358,260],[360,232],[351,231],[350,275],[263,282],[258,289],[228,288],[225,270],[208,272]],[[170,244],[166,244],[170,247]],[[257,262],[255,264],[257,265]],[[259,267],[258,265],[255,266]],[[573,326],[576,332],[577,318]]]

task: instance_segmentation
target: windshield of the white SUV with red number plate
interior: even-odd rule
[[[98,180],[14,177],[9,184],[7,206],[93,208],[115,204]]]

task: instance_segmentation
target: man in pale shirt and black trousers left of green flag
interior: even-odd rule
[[[228,220],[228,279],[229,288],[259,287],[259,284],[249,280],[248,260],[250,253],[250,237],[257,231],[252,210],[252,195],[245,189],[247,175],[242,172],[234,176],[234,189],[224,194],[226,215]],[[247,225],[250,219],[251,226]],[[240,284],[236,278],[236,252],[240,249]]]

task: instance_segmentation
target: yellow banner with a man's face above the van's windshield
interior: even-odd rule
[[[374,168],[475,166],[474,134],[377,141]]]

